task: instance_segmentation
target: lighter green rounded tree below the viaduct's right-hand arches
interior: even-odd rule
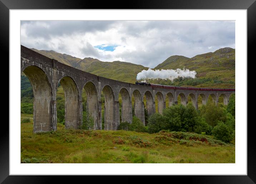
[[[206,105],[201,108],[201,116],[205,118],[206,122],[211,126],[216,126],[217,121],[226,121],[225,108],[216,106],[214,102],[207,101]]]

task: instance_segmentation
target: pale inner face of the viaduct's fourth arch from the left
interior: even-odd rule
[[[104,103],[104,130],[116,130],[118,124],[115,122],[115,97],[112,88],[108,85],[102,88],[105,97]],[[118,104],[119,107],[119,104]],[[118,111],[119,113],[119,111]]]

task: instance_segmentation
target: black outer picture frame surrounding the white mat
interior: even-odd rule
[[[256,34],[256,2],[255,0],[147,0],[138,1],[85,1],[85,0],[0,0],[0,48],[1,55],[6,56],[9,61],[9,10],[10,9],[246,9],[247,10],[247,56],[248,61],[253,58]],[[245,62],[245,61],[243,61]],[[248,62],[247,62],[248,63]],[[9,65],[6,66],[9,68]],[[11,68],[9,68],[11,70]],[[248,82],[247,82],[248,84]],[[247,93],[248,96],[248,93]],[[9,96],[9,98],[11,98]],[[245,99],[247,101],[247,99]],[[247,108],[247,107],[244,107]],[[247,108],[248,109],[248,108]],[[247,112],[248,114],[248,112]],[[10,123],[10,122],[9,122]],[[240,122],[241,123],[241,122]],[[247,122],[242,122],[247,123]],[[189,183],[255,183],[256,182],[256,149],[253,137],[253,122],[247,123],[247,175],[208,175],[208,176],[171,176],[180,182],[187,180]],[[1,125],[0,141],[0,183],[51,183],[53,176],[14,176],[9,175],[9,125]],[[76,176],[82,179],[88,176]],[[90,176],[89,181],[95,177]],[[108,176],[110,177],[110,176]],[[108,178],[107,177],[107,178]],[[133,182],[134,176],[125,176],[128,179],[115,180],[111,182]],[[162,176],[163,177],[163,176]],[[169,176],[170,177],[170,176]],[[59,182],[74,182],[74,177],[54,176]],[[98,179],[102,178],[97,176]],[[105,177],[104,177],[105,178]],[[62,180],[62,181],[61,181]],[[83,181],[84,179],[82,179]],[[150,176],[144,178],[144,182],[152,180]],[[164,179],[161,179],[164,181]],[[84,180],[85,181],[85,180]],[[72,182],[72,183],[73,183]],[[171,181],[170,181],[171,182]],[[187,183],[186,182],[186,183]]]

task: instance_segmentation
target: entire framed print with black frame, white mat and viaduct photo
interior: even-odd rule
[[[3,136],[0,160],[1,182],[27,183],[30,181],[30,183],[42,183],[51,180],[49,176],[44,175],[172,175],[172,177],[180,175],[175,176],[178,179],[184,177],[181,175],[186,175],[185,178],[192,183],[255,183],[253,128],[252,124],[247,123],[247,60],[250,56],[252,57],[252,46],[255,43],[253,36],[256,30],[256,3],[254,1],[213,2],[197,0],[197,3],[189,1],[161,1],[161,3],[159,1],[147,1],[142,3],[134,1],[133,3],[129,2],[125,7],[120,6],[117,2],[115,9],[110,4],[107,6],[107,2],[97,5],[95,2],[82,1],[75,3],[51,1],[46,3],[45,1],[22,0],[17,3],[1,0],[0,5],[0,19],[4,28],[1,30],[1,50],[5,55],[9,53],[7,60],[9,60],[10,72],[10,120],[9,126],[5,124],[6,128],[3,128],[1,135]],[[83,24],[83,26],[79,24]],[[176,30],[170,31],[165,27],[166,25],[171,25]],[[153,28],[148,29],[148,27]],[[109,31],[109,33],[103,34],[104,31],[102,30]],[[201,34],[196,35],[196,32]],[[179,35],[181,33],[182,36]],[[138,36],[142,34],[147,39]],[[133,37],[133,35],[136,36]],[[136,39],[134,39],[135,37]],[[197,37],[196,42],[198,44],[195,45],[195,40],[190,39],[190,37]],[[203,40],[202,38],[206,39]],[[159,41],[155,40],[161,40],[163,45],[159,45]],[[87,44],[85,44],[86,42]],[[208,43],[202,44],[205,42]],[[216,42],[219,43],[216,44]],[[168,51],[168,49],[173,52]],[[127,54],[125,55],[125,53]],[[204,74],[205,78],[200,78],[200,80],[212,77],[209,79],[210,82],[208,81],[209,85],[205,87],[200,86],[200,80],[190,80],[195,78],[199,65],[190,67],[189,70],[186,70],[185,67],[178,70],[179,68],[176,66],[173,67],[177,69],[172,68],[176,70],[164,67],[157,68],[157,66],[163,66],[163,61],[172,55],[179,56],[173,61],[182,60],[184,66],[187,66],[187,62],[196,63],[201,55],[203,55],[201,66],[204,66],[203,63],[206,62],[206,59],[209,63],[211,60],[211,63],[214,64],[216,58],[220,58],[222,63],[226,62],[226,58],[234,63],[232,66],[227,63],[223,64],[226,69],[223,69],[221,75],[214,70],[211,70],[210,75],[207,73],[210,66],[207,66],[209,64],[205,65],[202,71],[207,74]],[[195,59],[196,56],[197,59]],[[68,58],[75,60],[76,65],[70,64]],[[143,58],[147,59],[143,60]],[[18,60],[21,60],[21,65],[15,62]],[[100,64],[93,65],[94,68],[90,66],[91,70],[84,70],[83,73],[82,69],[79,68],[84,66],[83,60],[86,64]],[[104,63],[103,61],[107,61],[109,64],[100,68],[100,65]],[[112,61],[115,63],[110,67]],[[131,63],[123,65],[122,61]],[[173,63],[171,64],[173,65]],[[236,70],[235,64],[237,65]],[[133,68],[137,73],[136,80],[135,78],[129,80],[128,75],[125,77],[120,75],[122,72],[131,70],[129,69],[133,67],[131,65],[136,65]],[[113,68],[118,68],[119,73],[115,73]],[[227,68],[233,70],[229,71]],[[113,70],[111,75],[102,74],[110,70]],[[161,73],[157,73],[157,70],[159,72],[161,70]],[[20,71],[21,79],[20,73],[18,73]],[[168,78],[171,72],[172,76],[175,76],[174,78]],[[165,73],[168,77],[161,78]],[[213,75],[216,77],[214,78]],[[166,78],[168,78],[168,82],[164,81]],[[36,80],[33,81],[33,79]],[[20,80],[23,85],[26,80],[31,82],[30,91],[23,91],[22,94],[17,92],[21,87]],[[157,83],[159,81],[162,83]],[[189,87],[184,87],[186,84],[183,86],[181,82],[186,82],[186,84],[191,82],[191,85],[188,84]],[[40,88],[40,86],[43,87]],[[61,86],[62,91],[58,91],[59,86]],[[171,89],[171,87],[175,89]],[[171,90],[173,90],[172,93],[168,92]],[[216,116],[220,118],[220,121],[210,124],[209,137],[207,137],[205,128],[198,130],[200,138],[193,140],[194,134],[189,134],[189,132],[195,132],[196,128],[193,126],[192,128],[184,126],[187,129],[184,127],[183,129],[174,129],[174,126],[171,128],[166,126],[159,129],[159,131],[166,130],[166,132],[160,131],[159,134],[159,131],[154,132],[156,127],[149,123],[145,115],[147,111],[147,117],[154,112],[163,116],[164,109],[171,108],[171,103],[181,104],[181,108],[191,106],[191,109],[200,108],[201,110],[201,106],[205,107],[209,97],[212,97],[212,104],[223,101],[223,105],[217,107],[224,109],[225,106],[226,109],[227,104],[232,101],[230,95],[234,91],[237,93],[237,98],[234,97],[236,107],[235,101],[233,107],[235,108],[233,117],[236,117],[236,121],[232,117],[231,111],[228,111],[230,115],[223,117],[223,119],[229,118],[229,120],[223,120],[220,118],[222,115],[217,114]],[[22,104],[18,103],[17,101],[20,102],[21,96],[25,93],[28,98],[23,98]],[[29,95],[33,95],[33,98],[29,98]],[[199,101],[198,98],[200,98]],[[60,108],[60,104],[63,108]],[[173,107],[176,106],[173,105]],[[212,108],[215,107],[212,106]],[[215,111],[217,112],[219,109]],[[20,117],[20,112],[23,117]],[[61,114],[61,116],[56,114]],[[86,115],[83,116],[84,114]],[[175,117],[177,116],[176,114]],[[202,117],[207,119],[206,115]],[[230,120],[232,118],[233,120]],[[75,122],[73,122],[74,119]],[[48,120],[49,123],[47,124]],[[24,121],[24,123],[20,124],[18,121]],[[26,127],[28,129],[22,131],[21,127],[24,128],[27,125],[25,121],[29,121],[31,124]],[[125,134],[124,137],[120,134],[115,135],[112,140],[110,138],[112,134],[102,133],[104,131],[101,133],[91,131],[91,129],[100,131],[105,129],[115,132],[120,128],[120,125],[132,129],[131,124],[136,121],[143,125],[141,127],[143,130],[137,132],[148,132],[149,128],[151,133],[156,134],[148,137],[143,137],[139,133]],[[235,124],[225,124],[228,121]],[[219,129],[215,128],[217,125]],[[82,128],[82,126],[87,127]],[[231,126],[233,129],[230,128]],[[79,134],[79,138],[75,138],[70,132],[65,135],[58,134],[57,127],[60,130],[72,129],[71,131]],[[223,127],[224,129],[226,127],[225,131],[223,131]],[[86,130],[81,130],[80,134],[73,128]],[[138,127],[136,128],[138,129]],[[210,139],[212,138],[211,135],[214,134],[213,128],[215,128],[215,132],[220,131],[221,128],[224,133],[230,132],[228,134],[230,137],[224,136],[225,138],[223,138],[222,136],[218,140]],[[183,137],[188,136],[187,140],[185,138],[178,140],[176,133],[170,130],[187,132],[186,135],[182,134]],[[37,137],[36,140],[43,140],[44,146],[40,145],[43,143],[33,140],[33,135],[37,133],[41,137]],[[24,135],[26,138],[22,139]],[[206,141],[203,141],[206,138],[204,135],[207,137]],[[216,135],[220,134],[214,135],[216,138]],[[54,140],[58,136],[63,137],[61,140]],[[102,139],[104,136],[108,140]],[[170,136],[173,137],[170,138]],[[203,145],[211,142],[211,144],[216,144],[215,150],[217,151],[211,152],[212,155],[216,155],[216,158],[213,161],[202,161],[196,156],[187,159],[179,158],[178,154],[174,155],[174,153],[170,156],[168,152],[171,149],[169,147],[174,144],[163,143],[163,139],[170,139],[169,141],[172,142],[177,141],[179,148],[183,148],[183,144],[186,144],[186,149],[190,154],[192,153],[190,148],[194,144],[200,142],[200,145]],[[82,142],[75,144],[79,140],[92,140],[94,141],[93,144],[98,144],[98,141],[102,149],[100,151],[94,150],[90,155],[79,156],[79,150],[87,150],[87,145]],[[70,156],[65,157],[65,160],[52,156],[49,157],[51,159],[46,158],[46,156],[40,158],[36,156],[36,154],[44,153],[47,155],[52,152],[52,149],[46,147],[46,143],[51,144],[53,142],[58,142],[59,144],[56,144],[55,147],[60,146],[59,150],[61,150],[55,152],[56,155],[65,152],[64,150],[67,149],[65,146],[70,146],[69,149],[74,149],[74,152],[78,154],[72,155],[73,152],[69,152]],[[65,146],[62,144],[63,142]],[[104,143],[107,146],[103,149]],[[136,146],[130,146],[131,144],[136,144],[137,147],[143,144],[143,152],[141,148],[137,149]],[[217,144],[227,145],[228,148],[222,152]],[[161,147],[167,145],[165,147],[166,152],[162,153],[160,148],[158,150],[153,149],[159,145]],[[149,147],[150,149],[147,150]],[[35,150],[31,151],[32,148]],[[45,151],[41,152],[42,149]],[[111,150],[109,152],[104,151],[105,155],[102,154],[103,150],[108,149]],[[206,152],[206,155],[210,154],[210,150],[205,149],[197,150],[195,153],[201,157],[203,151]],[[116,156],[116,152],[122,152],[123,157]],[[221,158],[219,158],[220,155],[216,154],[217,152],[221,153]],[[141,155],[141,157],[136,154]],[[159,162],[163,155],[167,155],[168,159],[171,157],[178,157],[178,159],[169,161],[166,158],[166,162]],[[62,155],[61,158],[63,157]],[[111,162],[107,157],[111,157]],[[125,159],[128,161],[126,162]]]

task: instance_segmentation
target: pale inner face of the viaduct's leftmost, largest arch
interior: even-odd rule
[[[37,66],[28,66],[23,72],[29,78],[34,94],[33,132],[56,131],[53,113],[53,94],[48,77]]]

